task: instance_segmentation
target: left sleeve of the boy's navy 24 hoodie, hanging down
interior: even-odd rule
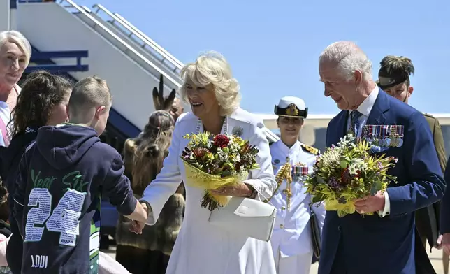
[[[13,217],[17,221],[20,235],[22,235],[22,237],[24,236],[23,214],[24,214],[25,195],[27,192],[27,178],[28,178],[28,159],[27,153],[24,153],[22,155],[22,159],[20,160],[19,173],[17,175],[17,180],[15,182],[15,192],[13,194],[14,199]]]

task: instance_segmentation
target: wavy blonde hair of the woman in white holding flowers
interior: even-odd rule
[[[214,86],[221,115],[231,115],[240,105],[238,80],[233,78],[230,65],[219,52],[206,52],[196,62],[186,64],[181,70],[181,78],[184,82],[180,87],[180,96],[186,103],[189,103],[186,84],[192,82],[198,87]]]

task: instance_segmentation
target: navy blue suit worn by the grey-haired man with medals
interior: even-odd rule
[[[327,147],[346,133],[348,113],[341,111],[328,124]],[[439,201],[445,188],[433,136],[422,113],[381,89],[366,124],[405,129],[403,145],[383,152],[398,157],[389,171],[398,178],[387,189],[390,215],[340,218],[326,212],[319,274],[414,274],[414,210]]]

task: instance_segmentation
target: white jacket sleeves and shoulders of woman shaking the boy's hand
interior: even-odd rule
[[[184,164],[180,155],[186,147],[189,140],[184,139],[185,134],[195,134],[196,126],[198,124],[198,117],[193,113],[183,113],[178,117],[173,131],[172,143],[169,147],[168,157],[164,159],[163,168],[157,178],[145,189],[142,200],[147,201],[152,206],[152,215],[147,219],[147,224],[154,224],[161,212],[164,204],[169,196],[175,193],[178,185],[184,176]],[[264,124],[259,117],[248,113],[242,108],[238,108],[228,117],[228,133],[232,134],[233,129],[240,128],[242,131],[241,138],[249,140],[251,145],[255,145],[259,149],[256,161],[259,164],[259,169],[252,171],[249,175],[247,184],[252,185],[259,193],[257,199],[261,201],[270,198],[276,188],[275,176],[273,175],[272,158],[270,157],[270,148],[266,134],[264,132]],[[189,188],[189,187],[188,187]],[[188,206],[188,200],[191,197],[187,190],[187,212],[192,210]],[[203,195],[203,192],[200,194]],[[191,203],[193,206],[195,203]],[[198,207],[200,206],[200,199],[198,199]]]

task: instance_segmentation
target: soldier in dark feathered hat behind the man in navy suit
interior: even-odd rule
[[[379,63],[377,85],[387,94],[408,103],[409,97],[414,91],[414,87],[409,80],[410,75],[414,74],[414,66],[411,59],[403,56],[388,55]],[[431,133],[440,161],[442,172],[447,165],[447,156],[444,148],[444,138],[439,121],[428,113],[423,113],[425,119],[430,125]],[[421,243],[426,247],[426,242],[430,247],[440,248],[440,201],[426,208],[416,211],[416,229],[419,232]],[[444,254],[444,268],[448,266],[448,257]]]

